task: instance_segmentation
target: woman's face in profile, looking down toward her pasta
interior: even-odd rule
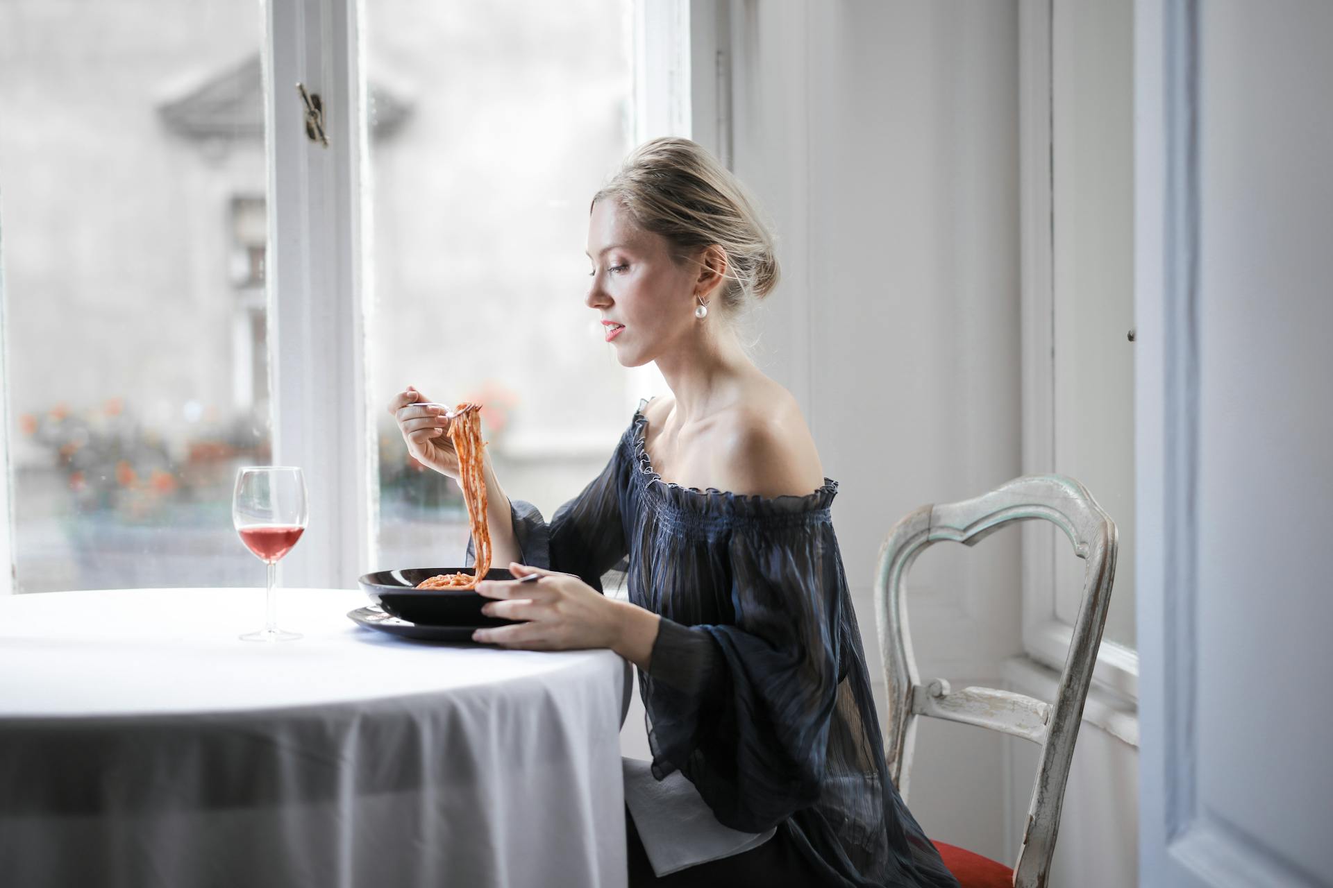
[[[694,334],[697,269],[673,261],[666,238],[639,228],[619,201],[593,205],[588,258],[592,284],[584,301],[601,314],[623,366],[648,363]]]

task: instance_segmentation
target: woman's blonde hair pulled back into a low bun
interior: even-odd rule
[[[777,286],[773,236],[745,186],[688,138],[653,138],[636,148],[592,198],[612,198],[644,230],[666,238],[676,261],[716,245],[726,256],[717,296],[734,316]],[[591,209],[591,208],[589,208]]]

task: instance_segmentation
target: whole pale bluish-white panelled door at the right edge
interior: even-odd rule
[[[1140,883],[1329,885],[1333,5],[1134,13]]]

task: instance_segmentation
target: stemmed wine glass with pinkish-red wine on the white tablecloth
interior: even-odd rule
[[[243,466],[236,473],[232,523],[241,542],[268,564],[268,622],[264,628],[241,635],[245,642],[289,642],[300,632],[277,628],[273,579],[277,562],[305,533],[309,511],[305,477],[296,466]]]

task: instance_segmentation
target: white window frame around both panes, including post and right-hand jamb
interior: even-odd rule
[[[702,9],[700,0],[633,3],[636,133],[644,138],[690,134],[692,7]],[[312,515],[279,570],[287,586],[353,588],[373,562],[379,513],[375,405],[365,379],[373,253],[363,206],[371,185],[364,7],[361,0],[265,0],[261,15],[272,462],[305,470]],[[705,16],[696,21],[712,27]],[[714,72],[700,75],[712,88]],[[307,136],[297,83],[320,96],[328,146]],[[3,286],[0,261],[0,343]],[[7,355],[0,349],[0,358]],[[641,382],[653,387],[660,378],[651,367]],[[7,566],[0,595],[8,595],[15,558],[7,390],[0,390],[0,564]]]

